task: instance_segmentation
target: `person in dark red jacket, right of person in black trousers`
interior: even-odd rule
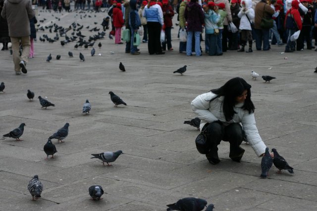
[[[172,6],[168,3],[168,0],[162,0],[162,3],[162,12],[165,26],[165,42],[162,42],[162,49],[166,50],[167,43],[167,50],[173,50],[171,42],[171,29],[173,26],[172,18],[174,16],[174,10]]]

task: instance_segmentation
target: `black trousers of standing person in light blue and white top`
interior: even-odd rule
[[[148,50],[150,54],[161,53],[162,47],[160,43],[160,28],[159,22],[147,22],[148,24]]]

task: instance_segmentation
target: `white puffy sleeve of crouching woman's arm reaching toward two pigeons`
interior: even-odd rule
[[[241,124],[248,142],[255,151],[256,155],[260,157],[265,152],[266,146],[259,134],[254,114],[246,113],[246,115],[242,118]]]

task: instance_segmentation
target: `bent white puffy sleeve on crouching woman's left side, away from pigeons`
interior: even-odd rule
[[[209,110],[210,100],[210,93],[205,93],[197,96],[190,104],[198,118],[208,123],[218,120]]]

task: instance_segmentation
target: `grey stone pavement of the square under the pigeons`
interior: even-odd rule
[[[41,23],[44,26],[51,21],[63,27],[74,21],[83,24],[81,32],[86,36],[96,32],[85,27],[100,27],[106,16],[89,13],[80,19],[84,13],[39,14],[39,20],[47,19]],[[166,204],[184,197],[204,198],[217,211],[316,210],[316,52],[281,54],[284,48],[272,45],[270,51],[185,56],[178,53],[176,28],[174,51],[165,55],[149,55],[146,43],[141,43],[141,55],[125,54],[124,44],[115,45],[107,38],[107,30],[106,39],[95,43],[94,57],[91,48],[74,49],[74,42],[64,47],[59,42],[41,43],[43,34],[55,36],[45,30],[38,33],[27,75],[20,76],[14,74],[8,51],[0,51],[0,82],[5,83],[5,93],[0,93],[0,134],[26,124],[24,141],[0,140],[1,211],[164,211]],[[68,51],[74,53],[73,58]],[[79,52],[85,62],[80,62]],[[47,63],[50,53],[53,59]],[[60,60],[55,59],[57,54]],[[126,72],[119,71],[120,61]],[[185,64],[183,76],[172,73]],[[276,79],[269,84],[260,78],[254,81],[251,70]],[[272,167],[268,179],[261,179],[261,158],[246,144],[242,144],[246,153],[241,163],[229,159],[225,142],[219,145],[221,162],[216,166],[196,150],[194,139],[199,132],[183,124],[195,117],[190,102],[237,76],[252,85],[257,126],[265,144],[286,158],[294,174],[276,174]],[[36,93],[34,102],[27,99],[27,89]],[[109,91],[127,106],[114,107]],[[41,109],[39,95],[56,106]],[[92,104],[89,115],[81,113],[86,99]],[[70,127],[65,143],[53,139],[56,158],[45,160],[47,138],[66,122]],[[91,154],[116,150],[124,154],[112,167],[90,159]],[[27,190],[34,174],[44,185],[42,198],[36,202]],[[88,187],[94,184],[103,186],[104,200],[90,200]]]

